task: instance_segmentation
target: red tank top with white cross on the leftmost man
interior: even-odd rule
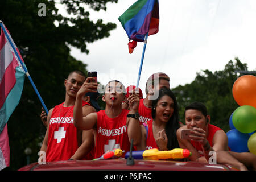
[[[63,102],[64,103],[64,102]],[[49,121],[46,161],[68,160],[78,148],[77,129],[73,124],[74,106],[54,107]],[[90,105],[82,101],[82,106]]]

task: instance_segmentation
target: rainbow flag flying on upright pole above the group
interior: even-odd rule
[[[129,52],[132,53],[137,42],[143,42],[146,34],[153,35],[159,27],[158,0],[138,0],[119,18],[129,40]]]

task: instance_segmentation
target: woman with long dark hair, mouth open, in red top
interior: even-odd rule
[[[170,89],[160,89],[158,98],[152,101],[152,118],[141,125],[142,137],[137,150],[179,148],[176,136],[180,127],[179,109]]]

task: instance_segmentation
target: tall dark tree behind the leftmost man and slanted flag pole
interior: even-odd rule
[[[89,53],[86,44],[106,38],[116,28],[114,23],[93,23],[88,7],[106,10],[106,3],[117,0],[60,0],[71,18],[59,14],[53,0],[1,1],[0,20],[22,53],[36,87],[48,110],[64,100],[64,79],[73,69],[87,73],[86,64],[70,55],[70,47]],[[39,16],[39,3],[46,5],[46,16]],[[87,6],[85,6],[87,5]],[[8,122],[10,167],[16,170],[26,165],[24,150],[32,149],[30,162],[37,162],[40,143],[46,132],[40,121],[40,103],[30,81],[25,79],[19,105]]]

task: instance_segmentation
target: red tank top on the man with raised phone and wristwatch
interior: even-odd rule
[[[99,158],[106,151],[121,148],[125,153],[130,150],[130,142],[127,133],[127,114],[129,110],[123,109],[115,118],[109,118],[105,110],[97,112],[97,137],[96,155]]]

